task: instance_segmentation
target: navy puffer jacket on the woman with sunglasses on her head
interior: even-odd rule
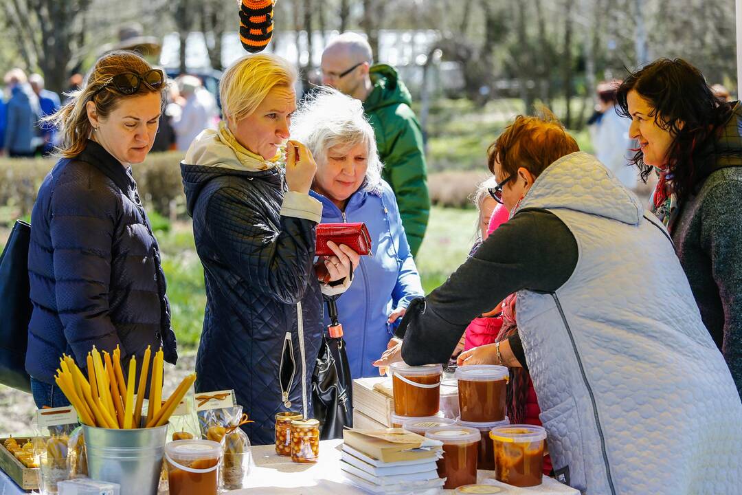
[[[80,367],[95,345],[122,358],[163,346],[177,360],[160,249],[137,183],[101,145],[54,165],[31,214],[33,313],[26,370],[53,383],[62,353]]]

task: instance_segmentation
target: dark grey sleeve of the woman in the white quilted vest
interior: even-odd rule
[[[447,362],[467,325],[521,289],[554,292],[577,266],[577,240],[545,210],[522,210],[426,298],[413,300],[397,329],[407,364]]]

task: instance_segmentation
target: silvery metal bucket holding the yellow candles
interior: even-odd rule
[[[118,483],[120,495],[156,495],[168,425],[139,430],[82,426],[88,476]]]

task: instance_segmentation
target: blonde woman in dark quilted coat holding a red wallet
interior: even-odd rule
[[[196,389],[234,389],[257,444],[275,441],[276,413],[312,416],[322,294],[343,292],[358,265],[355,252],[329,243],[335,255],[315,266],[322,206],[309,188],[317,165],[303,144],[286,142],[295,82],[278,56],[234,62],[220,82],[225,120],[203,131],[181,164],[206,278]]]

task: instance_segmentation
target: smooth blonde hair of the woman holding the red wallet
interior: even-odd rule
[[[296,79],[296,69],[280,56],[243,56],[224,71],[219,83],[224,116],[233,124],[249,117],[273,88],[293,89]]]

